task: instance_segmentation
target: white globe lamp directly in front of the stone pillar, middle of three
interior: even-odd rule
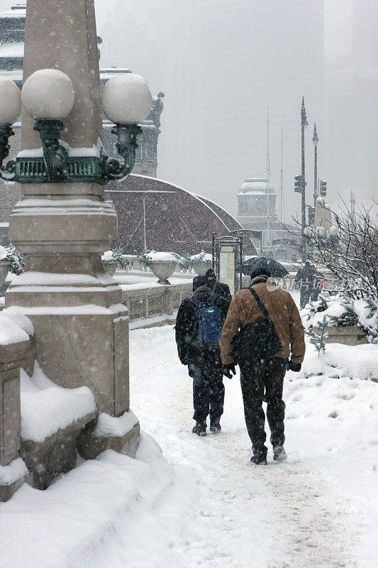
[[[23,84],[22,104],[33,119],[62,120],[74,106],[70,77],[58,69],[40,69]]]

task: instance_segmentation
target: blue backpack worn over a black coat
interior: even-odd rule
[[[194,338],[200,348],[219,346],[223,319],[221,312],[214,303],[217,297],[217,294],[211,294],[211,299],[207,302],[200,302],[195,297],[190,298],[190,301],[196,306],[196,310],[194,310]]]

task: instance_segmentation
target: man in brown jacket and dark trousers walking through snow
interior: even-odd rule
[[[269,290],[267,280],[270,271],[266,258],[259,258],[252,266],[251,284],[262,304],[272,319],[277,335],[282,343],[282,351],[278,351],[269,359],[251,361],[247,371],[240,371],[240,385],[243,394],[245,424],[252,442],[254,464],[267,464],[267,447],[265,440],[265,413],[262,402],[267,402],[267,419],[271,431],[270,442],[273,446],[273,457],[276,461],[287,458],[284,450],[284,410],[282,400],[284,376],[287,369],[300,371],[306,350],[304,327],[296,304],[289,292],[281,288]],[[239,329],[246,325],[263,320],[262,313],[255,297],[249,288],[243,288],[235,294],[228,308],[226,321],[219,345],[223,373],[232,378],[235,375],[235,359],[232,341]]]

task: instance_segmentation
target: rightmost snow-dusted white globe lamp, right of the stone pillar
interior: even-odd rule
[[[135,73],[111,77],[102,92],[102,108],[114,124],[138,124],[152,107],[150,87]]]

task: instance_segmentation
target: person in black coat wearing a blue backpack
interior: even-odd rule
[[[206,276],[196,276],[193,280],[195,302],[212,302],[226,320],[230,300],[213,292]],[[176,343],[179,359],[188,366],[189,376],[193,378],[193,405],[196,421],[192,432],[206,436],[206,419],[210,415],[210,430],[221,431],[223,414],[224,386],[223,365],[219,346],[199,346],[194,333],[194,312],[196,304],[185,298],[179,307],[176,320]]]

